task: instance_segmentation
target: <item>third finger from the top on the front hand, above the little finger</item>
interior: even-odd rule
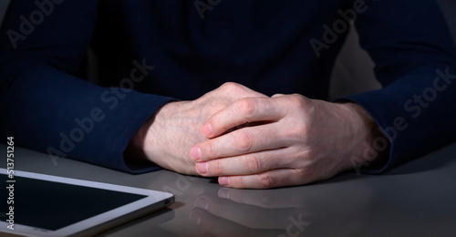
[[[271,149],[236,157],[198,162],[196,170],[202,176],[249,175],[264,170],[275,170],[289,166],[286,152],[283,149]]]

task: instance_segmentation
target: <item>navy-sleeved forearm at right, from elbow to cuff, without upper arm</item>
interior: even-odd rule
[[[456,67],[434,64],[386,88],[344,98],[366,109],[391,144],[383,166],[363,170],[378,173],[456,141],[456,110],[448,104],[456,99],[455,79]]]

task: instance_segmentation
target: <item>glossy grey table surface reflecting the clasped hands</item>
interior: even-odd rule
[[[5,144],[0,150],[5,168]],[[101,236],[456,236],[456,144],[381,175],[263,191],[168,170],[130,175],[18,147],[15,158],[16,170],[176,196],[169,208]]]

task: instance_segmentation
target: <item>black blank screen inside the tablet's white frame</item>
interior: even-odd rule
[[[5,174],[2,177],[7,179]],[[16,176],[15,180],[15,223],[49,231],[147,197],[25,177]],[[2,190],[7,197],[8,190]],[[0,202],[0,219],[5,222],[8,205]]]

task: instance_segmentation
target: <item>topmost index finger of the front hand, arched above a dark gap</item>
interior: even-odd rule
[[[275,121],[285,116],[279,99],[241,98],[209,118],[202,126],[202,135],[215,138],[228,129],[254,121]]]

